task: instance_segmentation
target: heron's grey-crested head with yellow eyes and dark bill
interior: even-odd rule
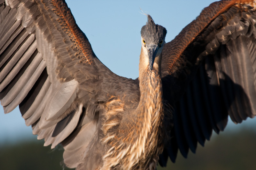
[[[148,68],[152,70],[154,63],[161,64],[161,53],[164,47],[166,29],[155,24],[150,15],[148,22],[141,28],[141,45],[144,59],[148,60]]]

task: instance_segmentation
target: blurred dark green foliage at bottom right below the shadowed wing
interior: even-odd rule
[[[252,127],[253,128],[253,127]],[[176,163],[168,160],[167,167],[157,170],[250,170],[255,168],[256,132],[241,129],[237,132],[225,131],[214,137],[202,147],[198,144],[196,154],[190,152],[188,159],[178,154]]]

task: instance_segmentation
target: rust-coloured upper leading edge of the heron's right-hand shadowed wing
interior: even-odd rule
[[[182,31],[169,43],[164,45],[164,55],[170,57],[163,57],[162,60],[162,76],[174,73],[179,69],[180,56],[184,52],[185,48],[194,41],[194,39],[202,33],[202,31],[211,23],[216,17],[230,9],[232,6],[238,7],[242,4],[253,4],[253,0],[227,0],[214,2],[205,8],[201,14],[192,21],[188,26],[182,29]],[[240,5],[241,4],[241,5]],[[181,59],[182,60],[182,59]]]

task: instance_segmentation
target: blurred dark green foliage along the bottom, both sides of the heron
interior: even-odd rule
[[[253,169],[255,144],[256,132],[249,129],[225,131],[220,135],[214,133],[211,141],[205,143],[205,147],[198,145],[196,154],[190,152],[188,159],[184,159],[179,153],[175,164],[169,160],[167,167],[158,167],[157,170]],[[43,147],[43,141],[24,141],[8,146],[0,144],[0,169],[62,170],[63,151],[61,147],[54,150],[50,146]]]

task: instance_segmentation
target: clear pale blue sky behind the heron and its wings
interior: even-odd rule
[[[156,24],[167,29],[165,41],[169,42],[212,2],[67,0],[78,26],[91,42],[97,57],[114,73],[127,78],[137,78],[139,75],[140,29],[147,21],[142,11],[150,14]],[[240,126],[229,124],[228,129],[239,129],[246,124],[252,127],[256,119],[250,119]],[[256,129],[256,126],[253,128]],[[36,136],[32,135],[31,127],[26,127],[19,110],[16,108],[4,115],[1,107],[0,143],[26,138],[36,139]]]

